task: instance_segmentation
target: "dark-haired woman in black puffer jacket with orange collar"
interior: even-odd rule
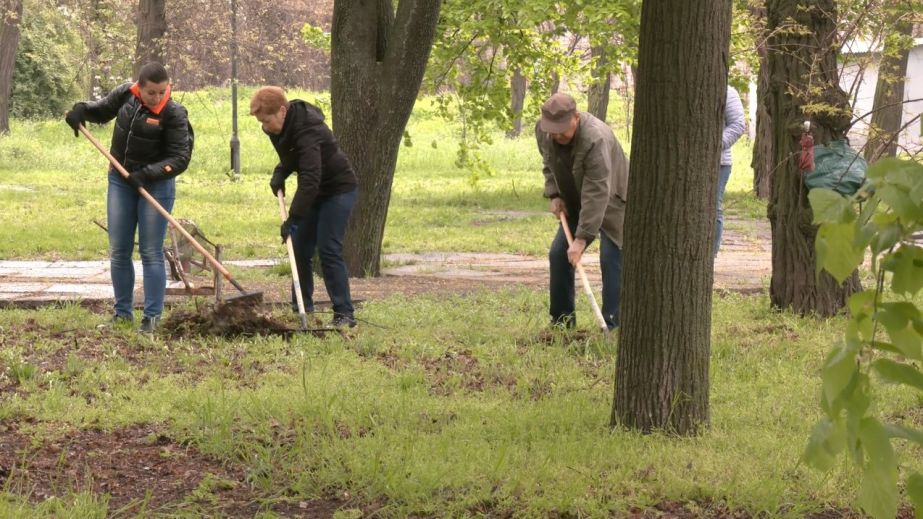
[[[144,187],[167,211],[176,198],[175,177],[186,170],[192,156],[192,127],[186,109],[170,98],[170,78],[159,63],[141,68],[137,83],[116,87],[105,98],[77,103],[65,120],[74,129],[86,121],[115,119],[110,152],[130,172],[128,179],[109,169],[107,215],[113,324],[132,321],[135,271],[132,264],[135,230],[144,276],[142,333],[153,333],[163,312],[166,269],[163,242],[167,220],[138,194]]]

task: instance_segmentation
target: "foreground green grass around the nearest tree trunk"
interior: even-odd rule
[[[843,320],[772,312],[762,297],[717,299],[711,426],[675,438],[608,428],[614,346],[536,341],[544,305],[530,290],[392,297],[362,312],[387,329],[288,343],[152,342],[131,330],[98,335],[103,318],[75,306],[4,310],[4,366],[69,357],[18,384],[0,418],[28,417],[35,441],[67,427],[161,424],[242,466],[269,502],[348,492],[384,504],[384,517],[606,517],[664,500],[785,517],[850,506],[851,466],[824,475],[799,463],[820,414],[818,370]],[[30,333],[14,333],[30,320]],[[914,403],[883,391],[885,414]],[[919,449],[901,452],[920,467]],[[58,505],[67,513],[6,498],[5,517],[108,509],[105,495],[72,496]]]

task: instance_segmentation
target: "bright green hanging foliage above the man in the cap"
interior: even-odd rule
[[[440,114],[461,123],[456,164],[475,179],[491,173],[477,151],[493,128],[507,130],[523,115],[511,108],[514,76],[529,85],[523,113],[534,118],[560,80],[579,93],[594,68],[609,74],[634,64],[639,23],[639,0],[446,2],[424,84],[439,94]],[[606,67],[595,67],[601,57]]]

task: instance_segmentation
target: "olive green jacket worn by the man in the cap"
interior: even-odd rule
[[[563,175],[573,178],[580,193],[580,200],[564,200],[568,208],[580,208],[574,236],[589,242],[602,231],[621,247],[628,200],[628,159],[612,129],[592,114],[580,112],[577,133],[570,145],[554,142],[537,123],[535,138],[544,162],[545,197],[563,197],[558,189]]]

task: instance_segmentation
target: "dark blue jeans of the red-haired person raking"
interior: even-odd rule
[[[306,311],[314,310],[314,273],[311,260],[314,252],[320,256],[324,286],[333,303],[335,314],[353,316],[353,301],[349,295],[349,272],[343,260],[343,239],[349,215],[356,205],[358,191],[318,198],[292,234],[295,264],[301,282],[301,295]],[[295,287],[292,287],[292,306],[295,306]]]

